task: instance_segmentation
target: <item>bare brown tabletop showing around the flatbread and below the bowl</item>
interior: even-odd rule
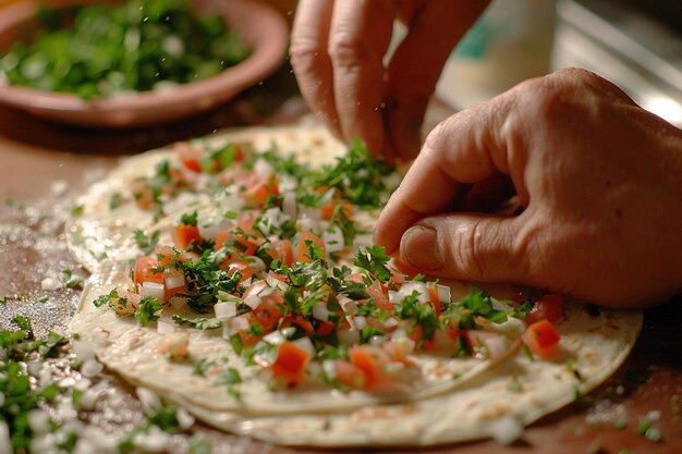
[[[294,91],[293,84],[289,71],[283,70],[266,81],[264,86],[251,89],[215,111],[170,125],[134,131],[82,130],[0,108],[0,198],[31,206],[54,197],[62,191],[78,194],[88,181],[101,175],[121,156],[209,134],[227,126],[255,124],[266,120],[269,123],[282,123],[296,119],[305,108],[300,99],[289,97]],[[26,235],[31,236],[37,223],[35,219],[17,213],[16,204],[2,204],[0,228],[23,223],[28,228]],[[16,298],[23,299],[22,304],[35,304],[31,295],[39,291],[41,268],[38,261],[45,259],[45,254],[40,255],[33,249],[35,243],[26,243],[21,235],[17,237],[8,232],[11,230],[0,230],[0,270],[4,271],[0,273],[0,298]],[[59,242],[59,237],[56,236],[56,241]],[[68,251],[58,250],[53,254],[54,259],[61,260],[62,265],[76,265]],[[56,312],[57,316],[48,317],[47,324],[63,324],[68,319],[69,306],[75,304],[77,293],[65,292],[62,296],[65,308]],[[8,312],[3,315],[0,311],[0,317],[4,317],[0,319],[0,329],[9,326]],[[645,312],[642,335],[632,355],[614,377],[577,405],[549,415],[527,428],[522,439],[514,444],[499,445],[485,441],[417,451],[453,454],[680,454],[681,397],[682,298],[677,297]],[[626,427],[614,428],[613,422],[623,417],[628,421]],[[636,427],[643,418],[649,418],[660,429],[662,441],[653,442],[636,433]],[[222,445],[221,452],[229,452],[231,445],[238,444],[240,452],[248,453],[308,452],[305,449],[266,445],[239,437],[214,435],[216,443]],[[411,450],[393,452],[397,451]]]

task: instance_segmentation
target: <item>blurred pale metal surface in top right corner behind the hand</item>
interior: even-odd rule
[[[553,68],[610,79],[643,108],[682,126],[682,35],[626,4],[563,0]]]

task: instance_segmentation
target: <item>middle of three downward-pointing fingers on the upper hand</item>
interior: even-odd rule
[[[392,34],[389,0],[334,2],[329,36],[333,93],[346,140],[361,138],[374,156],[385,148],[383,54]]]

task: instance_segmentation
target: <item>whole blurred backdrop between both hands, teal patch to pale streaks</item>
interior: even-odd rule
[[[581,66],[682,126],[682,1],[498,0],[452,53],[438,95],[454,107]]]

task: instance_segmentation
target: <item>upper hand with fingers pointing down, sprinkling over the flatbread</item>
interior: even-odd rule
[[[345,142],[391,162],[419,150],[428,98],[488,0],[301,0],[291,63],[313,109]],[[409,26],[388,66],[393,22]]]

